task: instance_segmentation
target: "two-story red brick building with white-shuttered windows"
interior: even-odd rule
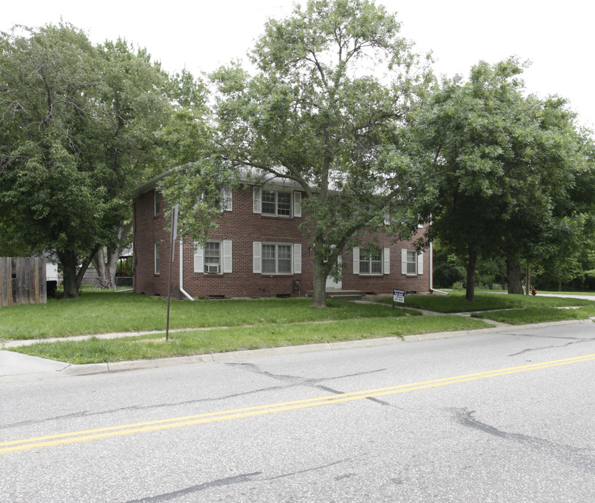
[[[169,222],[156,185],[138,187],[133,202],[134,291],[166,296],[171,257]],[[302,231],[302,197],[292,182],[270,182],[224,194],[224,211],[205,247],[177,240],[172,296],[274,297],[304,295],[314,285],[314,250]],[[429,292],[432,251],[376,236],[376,251],[355,247],[341,256],[343,277],[328,289]],[[181,261],[180,261],[181,260]]]

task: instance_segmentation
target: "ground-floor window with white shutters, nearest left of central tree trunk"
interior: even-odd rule
[[[300,243],[257,242],[253,244],[254,268],[259,274],[302,274]]]

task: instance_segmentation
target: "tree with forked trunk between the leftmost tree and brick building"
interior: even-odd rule
[[[140,182],[163,170],[163,142],[159,134],[170,122],[173,103],[169,78],[145,49],[134,50],[122,39],[98,45],[101,66],[96,130],[96,168],[103,170],[107,197],[128,207],[126,217],[112,230],[111,239],[98,250],[96,267],[115,281],[117,261],[129,244],[132,228],[130,194]],[[90,131],[89,131],[90,133]],[[90,135],[89,135],[90,136]]]

